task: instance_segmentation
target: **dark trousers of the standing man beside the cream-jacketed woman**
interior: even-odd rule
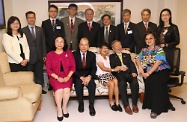
[[[34,73],[34,82],[44,86],[43,61],[37,60],[34,64],[28,64],[28,70]]]

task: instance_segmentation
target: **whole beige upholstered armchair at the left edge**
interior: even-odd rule
[[[32,72],[10,72],[7,54],[0,52],[0,121],[32,122],[40,110],[42,88]]]

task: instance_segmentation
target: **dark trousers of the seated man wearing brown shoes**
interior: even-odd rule
[[[121,97],[121,101],[124,106],[129,105],[128,96],[127,96],[127,82],[130,84],[130,89],[132,93],[132,104],[137,105],[138,101],[138,92],[139,85],[137,77],[126,78],[125,76],[117,76],[118,79],[118,88]]]

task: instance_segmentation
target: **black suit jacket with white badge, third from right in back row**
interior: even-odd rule
[[[135,24],[129,22],[126,34],[124,30],[124,22],[117,25],[117,29],[119,32],[119,41],[121,42],[122,47],[130,48],[130,52],[134,53],[135,52],[135,37],[134,37]]]

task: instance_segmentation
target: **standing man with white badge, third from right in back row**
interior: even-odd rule
[[[129,9],[124,9],[122,11],[123,22],[117,25],[119,32],[119,41],[122,44],[122,48],[135,53],[135,24],[130,22],[131,11]]]

